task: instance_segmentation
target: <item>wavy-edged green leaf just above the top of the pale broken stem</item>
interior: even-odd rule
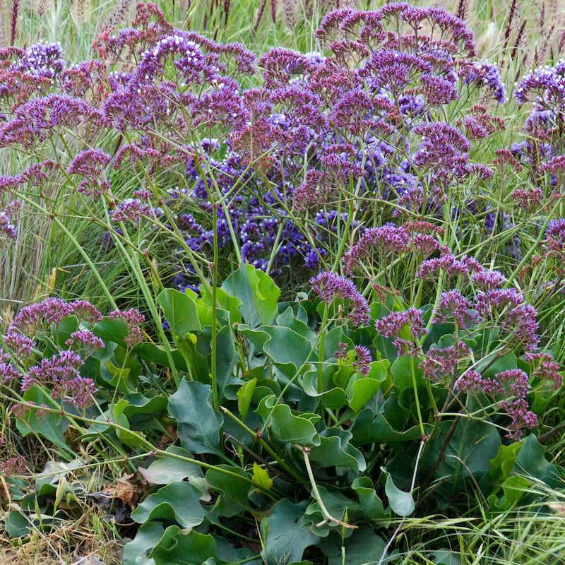
[[[258,414],[263,418],[263,422],[268,421],[270,416],[270,427],[274,436],[280,441],[288,441],[291,444],[302,446],[319,446],[320,437],[314,424],[304,413],[295,415],[286,404],[278,404],[273,410],[276,397],[274,395],[263,398],[257,407]],[[312,420],[319,420],[319,415],[312,415]]]

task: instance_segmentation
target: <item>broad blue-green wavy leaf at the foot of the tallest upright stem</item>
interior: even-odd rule
[[[179,422],[182,446],[191,453],[219,453],[222,417],[208,402],[210,385],[182,381],[169,398],[169,414]]]

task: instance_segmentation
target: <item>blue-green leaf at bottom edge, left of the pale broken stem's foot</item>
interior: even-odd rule
[[[269,565],[300,561],[304,549],[318,543],[319,537],[311,533],[309,524],[302,523],[307,505],[307,501],[294,504],[283,499],[261,521],[263,558]]]

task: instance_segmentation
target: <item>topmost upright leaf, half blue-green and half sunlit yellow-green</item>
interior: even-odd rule
[[[252,265],[243,263],[225,280],[222,290],[242,301],[239,312],[251,328],[268,326],[277,316],[280,289]]]

